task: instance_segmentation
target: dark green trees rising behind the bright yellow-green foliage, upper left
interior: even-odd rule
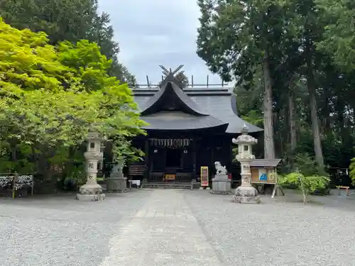
[[[109,15],[98,12],[97,0],[3,0],[0,16],[14,28],[47,33],[51,45],[62,41],[77,43],[83,39],[97,43],[102,54],[112,60],[109,74],[121,82],[136,82],[119,63],[114,29]]]

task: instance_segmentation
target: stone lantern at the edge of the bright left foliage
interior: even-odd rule
[[[98,162],[102,162],[104,157],[103,140],[104,138],[96,132],[89,132],[87,135],[87,152],[84,153],[87,183],[80,187],[80,193],[77,194],[78,200],[101,201],[105,199],[105,194],[102,194],[102,187],[97,184],[97,165]]]

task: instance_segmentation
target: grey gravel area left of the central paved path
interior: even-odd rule
[[[74,196],[1,199],[1,266],[97,266],[108,243],[129,223],[145,193],[108,196],[102,202]]]

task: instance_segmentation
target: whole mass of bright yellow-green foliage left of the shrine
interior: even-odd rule
[[[0,27],[6,40],[0,42],[0,148],[3,160],[11,160],[9,171],[31,172],[32,165],[48,174],[64,167],[89,130],[119,136],[112,140],[116,156],[137,159],[129,141],[144,133],[143,121],[128,85],[107,74],[111,61],[96,44],[82,40],[57,48],[44,33],[2,21]],[[47,169],[47,162],[53,167]]]

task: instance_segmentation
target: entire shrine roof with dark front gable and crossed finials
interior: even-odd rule
[[[147,130],[191,131],[213,128],[215,132],[241,133],[246,125],[251,133],[263,131],[239,118],[236,96],[228,89],[182,90],[182,82],[175,77],[182,66],[168,70],[160,65],[165,74],[160,89],[133,89],[141,118],[149,124],[145,127]]]

